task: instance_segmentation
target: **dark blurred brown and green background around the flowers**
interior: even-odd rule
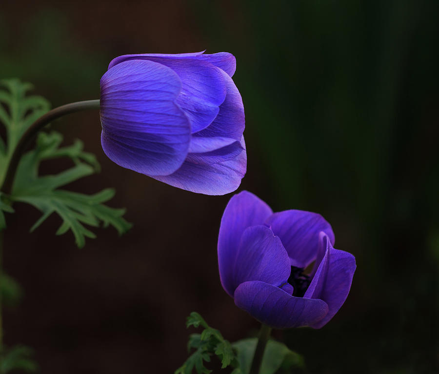
[[[53,106],[99,98],[111,59],[232,52],[246,111],[247,189],[273,209],[316,211],[353,253],[351,293],[321,330],[275,336],[310,373],[439,373],[439,2],[9,1],[0,4],[0,76]],[[97,112],[56,125],[116,187],[132,230],[75,247],[50,217],[16,205],[5,271],[23,287],[5,341],[35,348],[41,373],[172,373],[198,311],[231,341],[258,323],[220,285],[216,242],[231,197],[182,191],[122,169],[100,147]],[[47,162],[42,172],[60,170]]]

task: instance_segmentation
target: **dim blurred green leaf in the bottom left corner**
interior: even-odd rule
[[[6,349],[0,347],[0,374],[22,370],[28,373],[36,372],[38,365],[31,359],[32,349],[22,345]]]

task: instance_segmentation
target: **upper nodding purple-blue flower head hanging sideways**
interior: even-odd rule
[[[235,191],[247,155],[235,57],[117,57],[100,79],[101,143],[118,165],[206,195]]]

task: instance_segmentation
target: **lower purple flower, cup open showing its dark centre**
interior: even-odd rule
[[[222,287],[239,308],[268,326],[318,329],[344,303],[356,269],[355,257],[334,249],[334,240],[319,214],[273,213],[243,191],[230,199],[221,219]]]

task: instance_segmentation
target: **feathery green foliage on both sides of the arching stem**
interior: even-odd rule
[[[0,141],[0,180],[4,178],[7,164],[20,136],[49,108],[45,99],[25,95],[31,88],[28,83],[9,79],[1,81],[1,85],[5,89],[0,90],[0,102],[4,104],[0,106],[0,121],[6,127],[8,142],[6,146]],[[21,157],[12,194],[8,197],[0,195],[0,229],[5,227],[2,211],[13,212],[11,203],[20,201],[31,204],[42,212],[31,231],[52,213],[56,213],[62,219],[56,234],[61,235],[71,230],[78,247],[84,246],[85,237],[95,237],[83,224],[97,227],[102,223],[104,227],[112,225],[119,234],[126,232],[131,225],[122,217],[125,210],[102,204],[114,196],[113,189],[104,189],[93,195],[59,189],[100,170],[96,157],[83,151],[80,140],[65,147],[60,146],[61,142],[62,136],[57,132],[40,133],[35,148]],[[56,175],[39,175],[41,161],[61,157],[71,159],[74,166]]]

